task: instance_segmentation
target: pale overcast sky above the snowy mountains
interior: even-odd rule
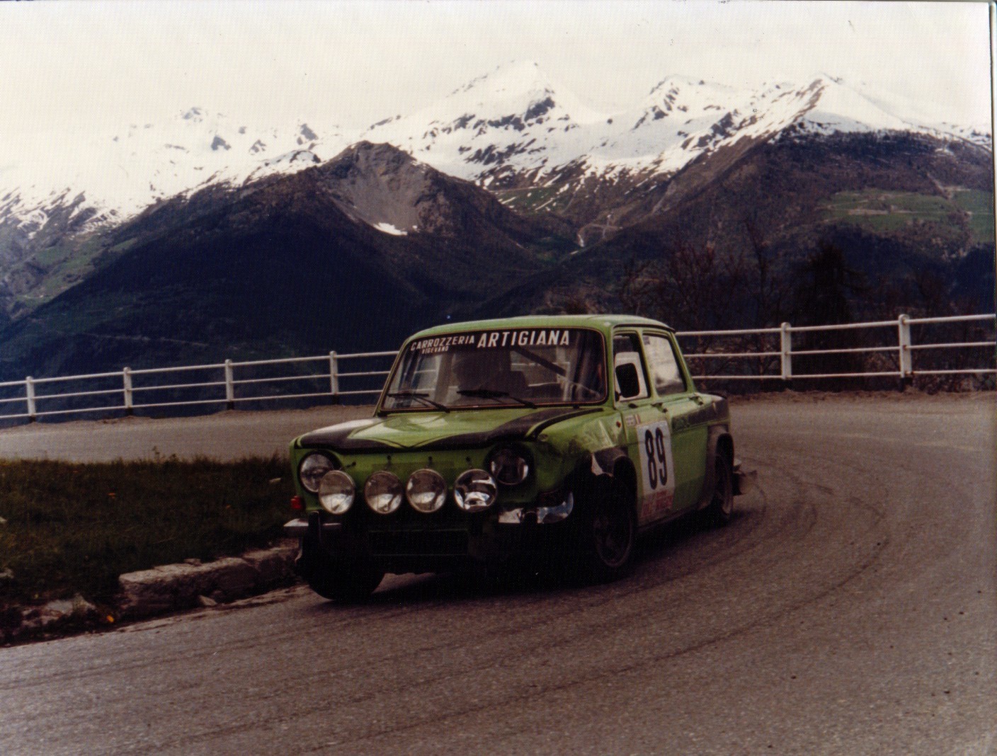
[[[598,109],[670,74],[728,84],[815,73],[990,121],[984,3],[0,3],[0,138],[143,124],[191,106],[259,123],[368,126],[508,61]]]

